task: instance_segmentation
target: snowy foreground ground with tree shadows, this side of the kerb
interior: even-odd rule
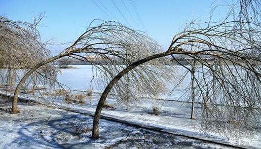
[[[10,106],[0,97],[0,149],[229,149],[105,119],[100,138],[92,140],[92,116],[31,102],[20,102],[20,113],[9,114]]]

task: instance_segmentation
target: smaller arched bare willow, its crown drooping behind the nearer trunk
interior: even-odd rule
[[[94,21],[91,25],[100,20]],[[87,61],[95,66],[97,86],[104,88],[110,80],[118,74],[126,66],[133,62],[160,52],[161,47],[156,41],[145,36],[139,31],[134,31],[120,23],[110,21],[89,27],[70,47],[66,48],[57,56],[44,60],[36,64],[18,83],[13,99],[12,111],[17,112],[17,97],[22,84],[26,79],[38,68],[53,62],[54,60],[69,56],[76,60]],[[128,51],[128,52],[126,52]],[[92,61],[87,56],[95,55],[103,59],[103,61]],[[128,59],[126,59],[128,57]],[[118,65],[118,64],[121,65]],[[130,72],[128,78],[131,83],[126,83],[126,79],[119,81],[113,88],[113,92],[117,94],[118,101],[124,103],[125,95],[122,94],[129,84],[131,90],[129,91],[129,101],[138,101],[138,95],[153,97],[156,94],[165,92],[166,81],[171,81],[174,71],[169,69],[162,69],[161,63],[172,63],[167,58],[162,58],[161,61],[151,61],[143,67],[139,67],[133,72]],[[73,76],[72,76],[73,77]]]

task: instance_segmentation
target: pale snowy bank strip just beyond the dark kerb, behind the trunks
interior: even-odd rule
[[[1,93],[9,94],[10,96],[12,96],[12,94],[8,92],[1,91]],[[63,100],[62,97],[55,100],[52,97],[45,97],[43,100],[42,98],[35,98],[31,95],[26,94],[21,95],[20,97],[26,100],[29,99],[31,101],[40,102],[46,105],[52,105],[62,109],[69,109],[75,112],[93,115],[98,99],[100,98],[100,94],[94,94],[92,96],[91,105],[88,104],[88,101],[86,101],[86,104],[68,104]],[[107,103],[114,106],[114,109],[104,108],[102,111],[102,116],[109,120],[115,120],[117,122],[127,124],[134,124],[143,128],[152,128],[154,130],[160,130],[162,132],[169,132],[172,134],[180,134],[192,138],[229,144],[229,139],[222,138],[219,134],[209,133],[208,135],[206,135],[201,132],[200,117],[196,117],[196,119],[193,120],[189,119],[189,103],[164,100],[157,100],[157,103],[151,103],[151,100],[144,99],[142,103],[137,103],[136,106],[129,107],[129,111],[126,111],[124,106],[118,105],[112,95],[107,99]],[[162,106],[162,110],[158,116],[151,114],[151,106],[154,104]],[[251,138],[257,139],[258,144],[252,146],[246,144],[246,146],[244,147],[249,149],[261,149],[260,136],[261,134],[251,136]],[[242,138],[243,137],[244,136],[242,136]]]

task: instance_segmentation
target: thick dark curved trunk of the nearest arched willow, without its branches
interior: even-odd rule
[[[130,66],[128,66],[127,68],[125,68],[124,70],[122,70],[119,74],[117,74],[112,81],[107,85],[107,87],[105,88],[105,90],[103,91],[103,94],[99,100],[99,103],[97,105],[96,111],[95,111],[95,115],[94,115],[94,119],[93,119],[93,126],[92,126],[92,138],[93,139],[98,139],[99,138],[99,120],[100,120],[100,115],[102,112],[102,108],[103,105],[105,103],[105,100],[108,96],[108,94],[110,93],[113,85],[116,84],[116,82],[124,75],[127,74],[129,71],[131,71],[132,69],[134,69],[135,67],[148,62],[150,60],[156,59],[156,58],[160,58],[160,57],[164,57],[167,55],[171,55],[174,54],[175,51],[167,51],[167,52],[162,52],[159,54],[155,54],[152,56],[149,56],[147,58],[141,59],[133,64],[131,64]]]

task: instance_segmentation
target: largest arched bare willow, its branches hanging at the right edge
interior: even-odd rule
[[[253,1],[246,0],[253,4]],[[244,2],[241,0],[240,2]],[[240,3],[241,4],[241,3]],[[258,2],[260,7],[260,3]],[[103,104],[112,87],[125,74],[144,63],[171,55],[196,61],[197,75],[193,76],[193,94],[202,101],[202,129],[229,135],[260,127],[261,85],[261,26],[258,21],[227,16],[222,22],[190,23],[173,37],[165,52],[140,59],[117,74],[105,88],[93,121],[92,137],[99,137],[99,118]],[[241,11],[242,10],[242,11]],[[231,12],[230,11],[230,12]],[[251,15],[251,14],[248,14]],[[229,20],[231,19],[232,20]],[[259,19],[259,18],[257,18]],[[208,61],[209,56],[214,61]],[[188,72],[187,66],[182,65]],[[234,129],[231,129],[234,128]],[[223,130],[223,131],[221,131]],[[240,130],[240,131],[238,131]],[[233,133],[232,133],[233,132]]]

